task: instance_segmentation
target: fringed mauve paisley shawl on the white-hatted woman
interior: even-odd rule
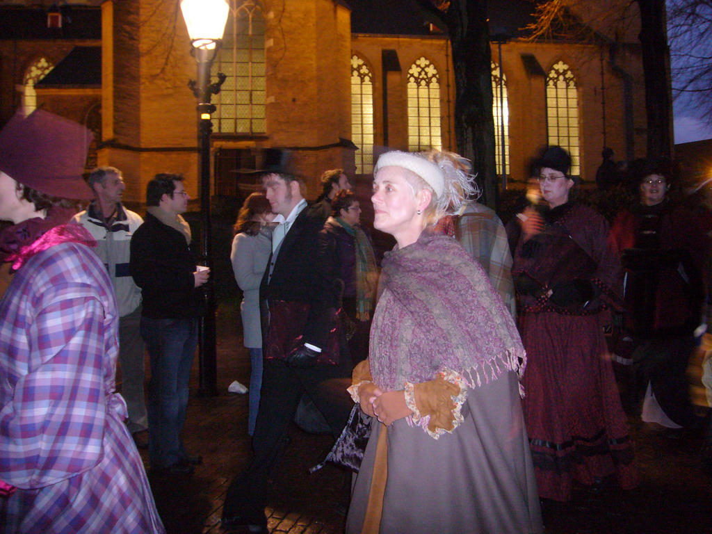
[[[510,313],[455,239],[424,232],[387,253],[381,284],[370,343],[379,387],[403,389],[451,371],[478,387],[523,372],[525,352]]]

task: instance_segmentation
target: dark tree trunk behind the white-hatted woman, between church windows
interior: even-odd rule
[[[445,14],[455,72],[455,135],[483,189],[481,201],[498,200],[492,116],[492,71],[487,0],[452,0]]]

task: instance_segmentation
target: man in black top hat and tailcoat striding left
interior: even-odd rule
[[[253,458],[228,490],[223,527],[266,533],[267,478],[300,397],[308,394],[335,437],[352,402],[340,402],[325,387],[327,381],[349,376],[351,366],[339,354],[335,289],[320,251],[324,220],[307,206],[300,179],[283,165],[263,172],[262,183],[278,214],[273,252],[260,288],[266,360]],[[348,397],[345,391],[342,394]]]

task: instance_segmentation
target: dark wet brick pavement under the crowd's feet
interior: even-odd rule
[[[187,478],[159,478],[149,472],[169,534],[221,533],[224,493],[248,459],[247,397],[227,393],[230,382],[247,384],[249,375],[236,310],[235,302],[219,310],[219,397],[197,397],[194,366],[184,435],[188,449],[201,454],[204,465]],[[712,481],[699,467],[701,434],[669,439],[637,419],[630,422],[641,486],[628,492],[615,486],[577,489],[572,503],[545,507],[547,534],[712,534]],[[272,533],[343,532],[344,518],[337,510],[347,503],[350,476],[333,466],[306,473],[325,456],[330,441],[329,436],[293,429],[269,491]]]

